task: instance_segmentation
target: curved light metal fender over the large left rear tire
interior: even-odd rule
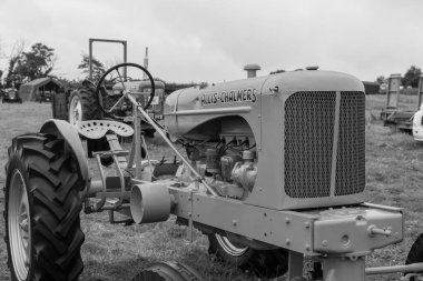
[[[78,131],[68,122],[58,119],[49,119],[40,129],[41,133],[55,134],[62,138],[70,147],[73,155],[78,161],[79,177],[88,181],[88,162],[85,158],[82,142],[79,139]]]

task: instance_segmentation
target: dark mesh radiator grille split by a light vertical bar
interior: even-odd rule
[[[296,92],[285,102],[285,192],[331,195],[336,92]],[[341,92],[335,195],[364,190],[365,98]]]

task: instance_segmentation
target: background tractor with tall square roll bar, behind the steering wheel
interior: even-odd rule
[[[132,92],[137,92],[138,102],[142,106],[147,104],[147,101],[150,97],[151,86],[145,76],[138,76],[136,79],[132,79],[127,74],[127,68],[121,68],[121,76],[116,76],[115,72],[111,72],[110,76],[105,76],[107,79],[104,82],[105,88],[110,91],[110,97],[105,99],[97,99],[95,91],[96,84],[99,81],[96,81],[92,76],[92,46],[95,42],[106,42],[106,43],[119,43],[124,47],[124,63],[127,62],[127,41],[125,40],[109,40],[109,39],[89,39],[89,78],[82,81],[81,86],[68,93],[58,93],[55,94],[52,101],[52,116],[55,119],[67,120],[71,124],[76,124],[79,121],[94,120],[109,118],[109,116],[101,111],[101,107],[98,106],[98,102],[101,102],[104,107],[108,107],[107,102],[112,102],[114,97],[117,98],[122,92],[122,86],[127,89],[130,89]],[[147,53],[146,53],[147,56]],[[147,60],[147,61],[146,61]],[[148,64],[148,59],[146,57],[145,64]],[[139,73],[135,73],[139,74]],[[155,82],[155,98],[151,100],[150,107],[147,111],[151,118],[155,120],[163,119],[163,104],[165,100],[165,82],[158,79],[154,80]],[[128,117],[125,119],[125,122],[131,122],[131,109],[130,104],[121,104],[119,109],[114,109],[115,114],[119,117]],[[118,112],[119,111],[119,112]],[[144,123],[142,131],[146,136],[153,137],[155,129],[148,123]]]

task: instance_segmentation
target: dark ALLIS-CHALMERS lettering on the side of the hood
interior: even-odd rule
[[[212,92],[201,96],[201,107],[216,103],[229,103],[229,102],[256,102],[257,89],[242,89],[233,90],[228,92]]]

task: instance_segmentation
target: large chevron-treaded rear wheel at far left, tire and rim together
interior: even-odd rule
[[[6,165],[6,237],[12,280],[78,280],[82,209],[77,161],[62,139],[13,139]]]

